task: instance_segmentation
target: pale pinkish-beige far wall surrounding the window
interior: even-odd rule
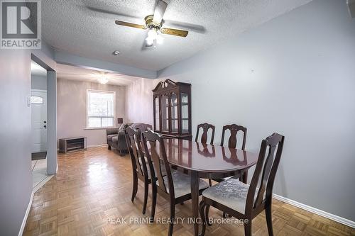
[[[58,139],[87,137],[87,145],[106,143],[106,130],[85,130],[87,89],[116,92],[116,118],[125,116],[126,87],[58,79]],[[115,120],[116,121],[116,120]],[[117,125],[117,123],[115,123]]]

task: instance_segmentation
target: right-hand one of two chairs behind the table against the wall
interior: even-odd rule
[[[238,132],[241,131],[243,132],[243,142],[241,143],[241,150],[245,150],[245,143],[246,143],[246,128],[241,125],[236,125],[236,124],[231,124],[231,125],[224,125],[222,128],[222,140],[221,140],[221,146],[224,145],[224,134],[226,133],[226,130],[229,130],[231,135],[229,136],[228,139],[228,147],[229,148],[236,148],[236,144],[238,141]],[[244,184],[246,184],[248,178],[248,171],[246,170],[241,176],[240,176],[240,181],[243,181]],[[215,179],[218,181],[218,179]]]

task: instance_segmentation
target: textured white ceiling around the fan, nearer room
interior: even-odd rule
[[[154,11],[154,0],[46,0],[42,1],[42,34],[56,50],[159,70],[310,1],[167,0],[165,27],[173,28],[171,21],[180,21],[201,26],[205,32],[190,31],[187,38],[164,35],[163,45],[141,50],[146,31],[116,26],[114,21],[144,24],[143,18]],[[114,50],[121,54],[111,55]]]

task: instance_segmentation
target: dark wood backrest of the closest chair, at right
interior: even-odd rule
[[[265,191],[266,202],[271,203],[273,182],[283,152],[284,139],[283,135],[273,133],[261,142],[258,162],[246,197],[246,213],[258,208],[263,203]]]

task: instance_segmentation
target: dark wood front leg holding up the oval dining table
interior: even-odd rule
[[[194,220],[194,235],[199,235],[199,184],[198,172],[191,172],[191,200],[192,200],[192,218]]]

